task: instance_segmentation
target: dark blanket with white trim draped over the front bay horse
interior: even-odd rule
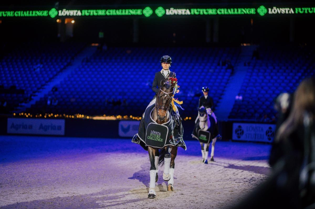
[[[144,118],[141,119],[140,123],[144,123],[144,129],[139,130],[138,136],[142,143],[144,143],[145,146],[152,146],[160,149],[167,145],[181,146],[186,150],[181,123],[176,125],[173,117],[169,117],[169,120],[166,123],[157,124],[157,122],[151,118],[151,113],[154,107],[155,104],[147,107],[144,113]],[[169,113],[169,115],[171,114]]]

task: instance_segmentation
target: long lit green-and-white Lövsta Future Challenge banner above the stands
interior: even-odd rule
[[[192,17],[192,16],[221,16],[221,15],[258,15],[258,16],[276,16],[276,15],[314,15],[315,5],[313,7],[304,6],[272,6],[267,7],[260,5],[258,7],[220,7],[220,6],[185,6],[179,5],[178,7],[167,6],[143,6],[141,8],[94,8],[94,9],[56,9],[50,8],[49,10],[8,10],[0,11],[0,18],[13,18],[13,17],[106,17],[106,16],[138,16],[138,17]]]

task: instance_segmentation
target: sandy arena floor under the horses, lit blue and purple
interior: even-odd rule
[[[175,190],[160,166],[152,200],[148,153],[130,139],[0,136],[0,208],[228,208],[270,172],[268,144],[218,141],[209,164],[186,145]]]

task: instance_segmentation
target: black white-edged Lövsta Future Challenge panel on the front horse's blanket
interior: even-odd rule
[[[168,133],[169,128],[167,126],[150,123],[146,128],[145,143],[147,146],[161,149],[166,144]]]

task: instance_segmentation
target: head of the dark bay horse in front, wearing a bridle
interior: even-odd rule
[[[157,99],[155,106],[157,108],[157,119],[159,121],[165,120],[169,106],[172,102],[174,87],[177,82],[171,82],[170,80],[161,81],[161,88],[157,92]]]

